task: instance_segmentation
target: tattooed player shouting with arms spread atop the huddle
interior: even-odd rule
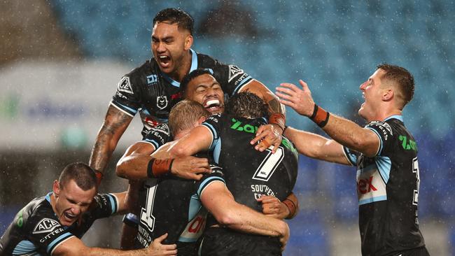
[[[266,141],[275,145],[275,148],[281,143],[285,113],[278,98],[239,67],[223,64],[191,49],[193,27],[193,17],[176,8],[160,10],[154,17],[151,43],[153,58],[120,79],[94,143],[90,166],[97,170],[99,180],[134,115],[140,112],[144,123],[143,135],[151,127],[167,122],[170,109],[181,99],[180,81],[197,68],[213,71],[229,96],[248,91],[264,99],[269,106],[271,122],[258,129],[257,139],[267,138]],[[216,106],[216,103],[206,104]],[[258,150],[267,147],[264,143],[256,145]]]

